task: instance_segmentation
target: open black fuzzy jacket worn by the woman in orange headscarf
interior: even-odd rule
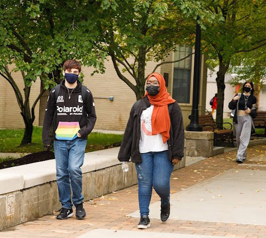
[[[132,162],[140,163],[142,161],[139,150],[141,136],[140,117],[143,110],[150,107],[148,97],[137,101],[131,108],[128,123],[118,153],[120,161],[128,161],[131,157]],[[184,157],[185,132],[181,108],[177,102],[168,105],[171,128],[170,139],[167,140],[169,160],[174,158],[182,159]]]

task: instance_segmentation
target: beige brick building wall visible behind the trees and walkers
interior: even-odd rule
[[[173,60],[173,53],[169,54],[165,61]],[[206,103],[206,68],[203,67],[202,60],[202,77],[201,77],[201,88],[200,88],[200,105],[199,110],[201,113],[205,110]],[[153,68],[157,65],[156,62],[148,62],[146,65],[146,75],[150,74]],[[191,95],[189,104],[180,104],[183,112],[184,126],[186,127],[190,121],[188,116],[191,114],[192,108],[192,92],[193,92],[193,66],[194,59],[192,57],[191,62]],[[91,76],[93,72],[92,68],[82,67],[82,72],[85,75],[83,84],[87,86],[93,93],[95,100],[95,108],[97,114],[97,122],[95,125],[96,129],[107,129],[107,130],[121,130],[123,131],[126,127],[127,120],[129,117],[129,112],[132,105],[136,102],[136,96],[134,91],[132,91],[126,83],[124,83],[119,77],[114,69],[111,60],[105,62],[105,73],[95,74]],[[122,67],[121,67],[122,69]],[[168,81],[168,91],[172,93],[172,83],[173,83],[173,64],[163,64],[157,68],[157,72],[169,74]],[[131,82],[134,80],[126,73],[123,73]],[[23,89],[23,80],[20,73],[14,73],[14,78],[19,84],[19,88]],[[0,128],[24,128],[23,118],[20,115],[19,107],[16,103],[15,94],[11,86],[4,80],[0,78]],[[204,79],[204,80],[203,80]],[[30,103],[32,104],[37,94],[40,91],[40,82],[37,80],[32,86]],[[110,101],[108,98],[110,96],[114,97],[114,101]],[[39,103],[36,105],[35,113],[36,119],[34,125],[42,126],[43,114],[45,112],[46,101],[48,97],[48,91],[43,95],[41,107],[39,108]],[[103,99],[107,98],[107,99]],[[203,102],[203,103],[202,103]],[[40,117],[39,117],[40,111]],[[8,118],[8,120],[7,120]]]

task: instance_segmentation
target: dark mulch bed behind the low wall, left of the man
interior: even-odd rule
[[[0,170],[18,166],[18,165],[35,163],[35,162],[45,161],[45,160],[54,159],[54,158],[55,158],[55,155],[54,155],[54,152],[52,151],[36,152],[30,155],[23,156],[18,159],[13,159],[13,160],[10,159],[5,162],[2,162],[0,163]]]

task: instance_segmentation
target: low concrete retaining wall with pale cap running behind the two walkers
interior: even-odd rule
[[[118,150],[112,148],[85,154],[82,166],[85,201],[138,183],[134,163],[129,162],[129,171],[122,172]],[[184,166],[185,158],[179,168]],[[55,160],[0,170],[0,230],[60,208]]]

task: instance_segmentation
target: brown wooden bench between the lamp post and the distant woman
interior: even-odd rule
[[[199,115],[198,123],[203,126],[203,131],[213,131],[214,132],[214,143],[217,140],[228,140],[231,142],[232,147],[234,147],[233,142],[233,125],[229,122],[222,123],[223,126],[228,125],[229,128],[223,127],[223,129],[217,128],[217,123],[214,122],[212,114],[209,113],[207,115]]]

